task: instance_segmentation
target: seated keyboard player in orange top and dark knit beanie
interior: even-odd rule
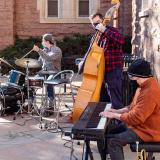
[[[150,63],[137,59],[127,72],[139,87],[128,107],[100,113],[102,117],[122,122],[110,123],[105,143],[98,141],[102,160],[106,160],[106,153],[111,160],[124,160],[123,146],[129,143],[160,142],[160,85],[151,74]]]

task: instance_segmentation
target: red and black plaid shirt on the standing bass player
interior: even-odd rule
[[[106,30],[101,34],[98,42],[100,47],[104,48],[105,71],[110,72],[115,68],[122,68],[122,44],[124,37],[116,28],[106,26]]]

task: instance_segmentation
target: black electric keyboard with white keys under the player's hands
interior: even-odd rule
[[[99,116],[100,112],[111,108],[110,103],[89,102],[79,120],[72,127],[74,137],[102,139],[107,127],[107,118]],[[78,139],[78,138],[77,138]]]

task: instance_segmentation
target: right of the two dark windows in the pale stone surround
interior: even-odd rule
[[[79,17],[89,17],[89,0],[79,0]]]

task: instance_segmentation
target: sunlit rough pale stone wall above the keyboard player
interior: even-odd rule
[[[160,0],[132,0],[132,53],[151,62],[160,80]]]

